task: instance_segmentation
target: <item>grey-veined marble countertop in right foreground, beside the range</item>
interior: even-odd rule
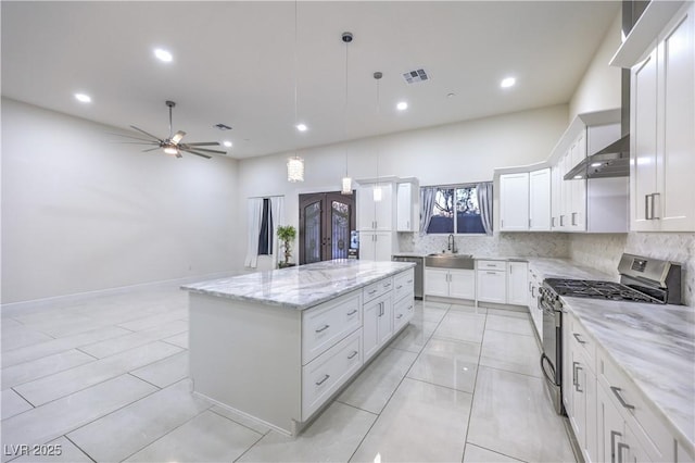
[[[563,297],[565,306],[695,448],[695,311]]]

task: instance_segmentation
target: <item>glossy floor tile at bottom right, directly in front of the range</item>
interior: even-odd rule
[[[468,442],[527,462],[573,462],[542,378],[480,366]]]

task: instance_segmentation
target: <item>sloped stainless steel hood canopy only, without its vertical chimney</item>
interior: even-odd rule
[[[585,158],[565,175],[566,180],[630,175],[630,135]]]

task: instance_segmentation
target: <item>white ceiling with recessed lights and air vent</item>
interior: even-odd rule
[[[165,100],[174,100],[173,128],[188,133],[186,142],[230,140],[228,155],[243,159],[567,103],[620,4],[2,1],[1,8],[4,97],[160,137],[168,135]],[[349,46],[343,32],[354,35]],[[155,48],[170,51],[173,61],[156,60]],[[430,79],[406,84],[402,74],[420,67]],[[376,71],[383,73],[378,96]],[[507,76],[517,85],[503,89]],[[79,103],[75,92],[92,102]],[[397,111],[399,101],[408,109]],[[308,130],[299,133],[298,122]],[[220,132],[218,123],[232,129]]]

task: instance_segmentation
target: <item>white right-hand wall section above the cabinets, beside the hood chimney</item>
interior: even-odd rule
[[[569,121],[577,114],[620,108],[620,67],[608,62],[620,47],[621,11],[608,28],[603,42],[586,68],[569,102]]]

